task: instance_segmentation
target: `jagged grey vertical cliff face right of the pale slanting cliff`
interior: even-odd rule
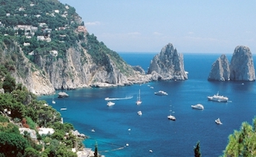
[[[86,62],[81,62],[81,60],[86,60]],[[47,59],[39,58],[37,66],[41,66],[47,72],[55,89],[106,87],[136,83],[129,81],[129,78],[137,78],[138,82],[150,81],[147,78],[143,79],[125,62],[118,61],[119,66],[123,69],[121,71],[115,59],[112,59],[110,55],[105,58],[104,66],[97,65],[87,50],[79,45],[67,50],[66,61],[59,58],[50,65],[47,62],[49,62]]]

